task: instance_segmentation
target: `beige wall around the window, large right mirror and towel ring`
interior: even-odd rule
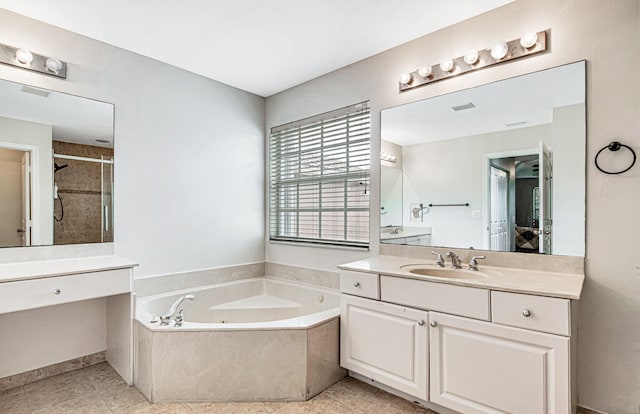
[[[587,59],[587,280],[581,301],[578,398],[610,413],[640,411],[640,166],[606,176],[593,156],[614,137],[638,147],[640,100],[638,0],[517,0],[507,6],[363,60],[267,99],[266,127],[369,99],[372,154],[380,150],[382,108]],[[469,49],[550,29],[550,50],[521,61],[398,93],[398,76]],[[373,163],[371,205],[379,205]],[[377,253],[380,224],[371,218],[371,251],[272,244],[267,260],[335,269]]]

